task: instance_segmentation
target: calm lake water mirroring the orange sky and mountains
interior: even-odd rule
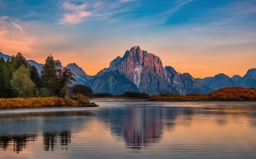
[[[0,159],[255,159],[256,102],[0,110]]]

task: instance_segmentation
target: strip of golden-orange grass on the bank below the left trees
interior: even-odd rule
[[[24,108],[24,107],[99,107],[94,102],[74,100],[70,98],[45,97],[45,98],[10,98],[0,99],[0,108]]]

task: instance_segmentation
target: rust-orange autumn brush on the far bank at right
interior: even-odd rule
[[[256,101],[256,88],[225,87],[209,94],[159,94],[151,101]]]

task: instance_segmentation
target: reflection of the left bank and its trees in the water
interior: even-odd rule
[[[0,114],[0,150],[12,149],[19,153],[29,142],[43,135],[44,150],[54,150],[59,141],[67,150],[71,131],[84,124],[84,117],[94,116],[92,111],[49,111]],[[41,133],[43,132],[43,133]]]

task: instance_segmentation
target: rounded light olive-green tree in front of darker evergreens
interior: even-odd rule
[[[20,67],[13,72],[11,79],[11,87],[17,91],[19,97],[27,97],[33,95],[33,90],[36,85],[30,79],[29,70],[25,68],[25,65]]]

